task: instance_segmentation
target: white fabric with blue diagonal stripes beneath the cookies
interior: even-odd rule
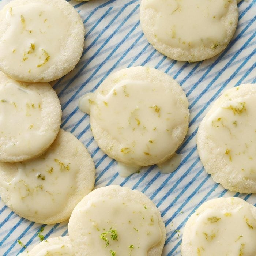
[[[1,0],[0,7],[8,0]],[[218,56],[199,63],[178,62],[163,56],[148,44],[139,21],[139,0],[69,1],[82,16],[86,41],[82,59],[75,69],[53,82],[59,95],[61,127],[72,132],[89,150],[97,170],[96,188],[118,184],[138,189],[157,205],[166,225],[163,255],[181,255],[181,238],[189,216],[206,200],[238,196],[256,205],[256,195],[230,192],[216,184],[199,160],[195,136],[211,103],[223,90],[241,83],[256,82],[256,0],[238,4],[239,22],[227,48]],[[171,174],[156,166],[144,167],[128,178],[118,175],[117,163],[97,146],[90,131],[90,118],[78,110],[78,99],[94,91],[113,71],[132,67],[157,68],[181,84],[189,100],[189,131],[178,153],[182,162]],[[38,202],[40,203],[40,202]],[[44,207],[44,206],[42,206]],[[0,255],[16,255],[40,240],[68,234],[67,223],[39,225],[20,218],[0,202]]]

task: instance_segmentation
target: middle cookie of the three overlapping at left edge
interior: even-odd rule
[[[49,83],[17,82],[0,71],[0,162],[37,157],[53,143],[61,106]]]

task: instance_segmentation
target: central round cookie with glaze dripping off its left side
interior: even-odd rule
[[[154,68],[133,67],[110,75],[95,93],[80,100],[83,107],[90,113],[99,147],[129,166],[169,159],[188,130],[185,93],[173,78]]]

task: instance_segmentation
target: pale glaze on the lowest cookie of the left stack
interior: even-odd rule
[[[22,215],[42,218],[57,214],[76,190],[78,166],[61,159],[52,149],[28,162],[14,163],[17,173],[10,183],[10,204]]]

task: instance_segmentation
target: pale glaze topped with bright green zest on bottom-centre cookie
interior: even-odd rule
[[[161,241],[158,218],[152,210],[121,199],[95,199],[78,210],[90,255],[140,255]]]

